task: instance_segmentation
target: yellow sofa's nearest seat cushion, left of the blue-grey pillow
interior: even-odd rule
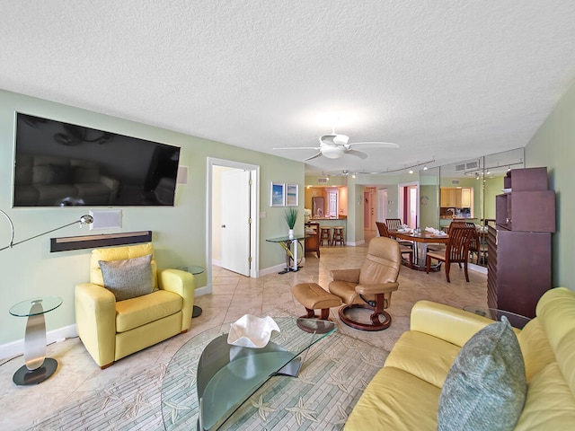
[[[398,368],[385,366],[367,385],[345,431],[435,431],[441,390]]]

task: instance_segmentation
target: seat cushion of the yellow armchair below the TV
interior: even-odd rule
[[[158,290],[116,303],[116,332],[126,332],[151,321],[157,321],[181,311],[183,300],[178,294]]]

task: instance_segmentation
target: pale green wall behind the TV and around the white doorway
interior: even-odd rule
[[[59,295],[64,303],[57,311],[47,314],[47,329],[64,328],[75,323],[74,286],[89,279],[90,250],[50,253],[50,237],[151,230],[159,268],[205,267],[208,156],[261,166],[260,211],[267,213],[260,219],[261,269],[281,265],[285,261],[278,244],[265,241],[272,236],[284,235],[288,230],[283,219],[284,208],[270,207],[271,181],[299,184],[302,216],[296,230],[303,232],[304,163],[0,90],[0,209],[13,220],[14,242],[71,223],[89,209],[102,209],[12,208],[15,111],[181,146],[180,163],[189,167],[189,180],[187,185],[177,186],[174,207],[119,207],[123,224],[120,230],[89,231],[86,227],[80,230],[70,226],[24,242],[12,250],[0,251],[0,345],[23,338],[25,319],[11,316],[8,310],[14,303],[25,299]],[[0,215],[0,248],[8,244],[9,238],[9,225]],[[208,286],[210,282],[205,274],[201,275],[197,278],[197,287]]]

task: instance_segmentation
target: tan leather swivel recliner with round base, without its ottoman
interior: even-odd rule
[[[392,317],[384,309],[389,306],[392,292],[397,290],[402,254],[399,243],[391,238],[376,237],[369,242],[367,256],[361,268],[334,269],[329,289],[338,295],[345,305],[340,308],[340,319],[358,330],[385,330]],[[350,318],[350,310],[372,310],[370,323]],[[382,320],[383,318],[383,320]]]

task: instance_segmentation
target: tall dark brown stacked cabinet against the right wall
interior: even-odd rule
[[[504,184],[510,191],[495,198],[496,227],[488,232],[487,303],[533,318],[552,286],[555,193],[547,168],[514,169]]]

